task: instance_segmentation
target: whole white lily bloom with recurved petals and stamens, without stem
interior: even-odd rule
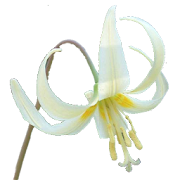
[[[63,121],[62,123],[50,125],[46,122],[16,79],[10,80],[10,87],[14,101],[24,120],[44,133],[57,136],[75,135],[87,127],[94,117],[99,137],[109,139],[111,159],[116,161],[118,158],[116,153],[117,139],[124,155],[124,162],[119,163],[119,165],[131,172],[132,164],[139,165],[140,160],[133,160],[128,147],[132,147],[132,141],[138,150],[142,150],[143,145],[127,114],[140,114],[156,108],[164,99],[169,84],[162,72],[165,62],[165,47],[158,32],[148,22],[138,17],[123,17],[120,20],[136,22],[145,29],[154,51],[153,61],[140,49],[130,46],[130,49],[140,53],[149,61],[151,69],[136,88],[127,90],[130,76],[121,39],[116,29],[115,11],[116,6],[114,5],[108,10],[105,17],[98,54],[98,80],[93,86],[93,91],[85,93],[85,97],[88,99],[87,105],[71,105],[61,101],[48,84],[45,72],[47,60],[55,52],[61,52],[61,48],[51,50],[41,63],[36,83],[36,94],[42,109],[53,119]],[[150,100],[139,100],[129,96],[145,92],[154,83],[156,83],[156,91]],[[129,122],[130,128],[125,119]]]

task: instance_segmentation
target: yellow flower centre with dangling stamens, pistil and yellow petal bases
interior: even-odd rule
[[[129,116],[127,116],[123,111],[117,108],[114,100],[123,107],[132,107],[133,103],[123,94],[117,94],[113,98],[107,98],[98,102],[100,117],[104,120],[107,126],[107,132],[109,135],[109,153],[111,160],[117,161],[118,159],[116,153],[117,138],[118,144],[121,145],[124,155],[124,162],[119,163],[119,165],[125,167],[125,170],[130,172],[132,170],[131,163],[133,163],[134,165],[138,165],[140,161],[134,161],[132,159],[127,147],[132,147],[131,140],[138,150],[141,150],[143,146],[136,135],[137,133],[133,126],[133,122],[131,121]],[[121,122],[123,120],[123,117],[122,115],[120,116],[120,113],[122,113],[125,116],[125,119],[127,119],[130,123],[132,130],[129,130],[128,133],[124,128],[126,127],[126,124],[124,122]],[[128,129],[128,127],[126,129]]]

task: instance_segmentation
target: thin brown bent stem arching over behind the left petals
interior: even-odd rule
[[[84,57],[85,57],[85,59],[87,61],[87,64],[88,64],[88,66],[89,66],[89,68],[90,68],[90,70],[92,72],[94,82],[97,83],[98,82],[98,71],[96,70],[95,65],[92,62],[92,59],[89,56],[88,52],[86,51],[85,47],[81,43],[79,43],[78,41],[75,41],[75,40],[72,40],[72,39],[65,39],[65,40],[60,41],[58,44],[56,44],[55,48],[59,48],[60,46],[65,45],[65,44],[74,45],[84,55]],[[47,61],[47,64],[46,64],[46,76],[47,76],[47,79],[49,79],[50,70],[52,68],[53,60],[54,60],[54,54],[49,57],[49,59]],[[41,108],[41,105],[39,104],[38,99],[36,100],[35,107],[36,107],[36,109],[38,111]],[[22,164],[23,164],[23,161],[24,161],[25,154],[27,152],[27,148],[28,148],[28,145],[29,145],[29,142],[30,142],[30,139],[31,139],[31,134],[32,134],[33,129],[34,129],[34,127],[29,124],[28,128],[27,128],[25,138],[24,138],[24,141],[23,141],[22,146],[21,146],[21,150],[20,150],[20,153],[19,153],[19,156],[18,156],[18,159],[17,159],[16,166],[15,166],[14,178],[13,178],[14,180],[19,179],[19,175],[20,175],[20,172],[21,172],[21,169],[22,169]]]

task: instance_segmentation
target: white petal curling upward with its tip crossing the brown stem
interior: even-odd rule
[[[42,109],[45,110],[50,117],[55,120],[65,120],[82,114],[88,107],[96,104],[98,95],[94,93],[93,100],[88,105],[72,105],[61,101],[61,99],[54,94],[46,78],[45,66],[51,54],[59,51],[61,51],[61,49],[51,50],[41,63],[36,83],[36,94]],[[61,85],[60,79],[57,79],[57,84]],[[63,84],[61,86],[64,88]]]

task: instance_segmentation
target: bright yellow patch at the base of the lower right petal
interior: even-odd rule
[[[122,107],[125,107],[125,108],[130,108],[130,107],[134,106],[134,103],[128,98],[128,96],[126,96],[126,95],[124,95],[122,93],[116,94],[114,96],[114,100],[119,105],[121,105]]]

